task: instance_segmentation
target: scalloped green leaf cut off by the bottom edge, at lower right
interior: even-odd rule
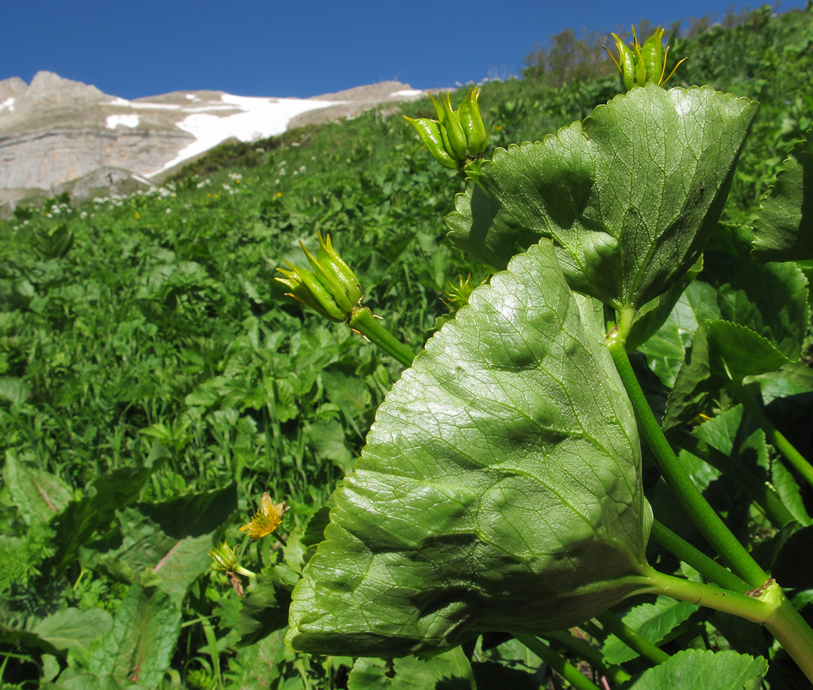
[[[763,657],[688,649],[624,683],[620,690],[759,690],[766,672]]]

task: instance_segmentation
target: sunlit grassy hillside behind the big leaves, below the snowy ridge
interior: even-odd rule
[[[672,54],[689,61],[671,84],[762,103],[725,210],[740,221],[811,126],[813,12],[733,24],[677,37]],[[494,146],[544,137],[619,92],[603,67],[563,85],[551,74],[482,87]],[[445,241],[459,179],[402,115],[434,113],[427,99],[224,145],[151,193],[53,199],[0,222],[2,683],[38,687],[67,668],[51,687],[80,687],[62,683],[112,672],[102,632],[138,586],[177,614],[154,687],[343,687],[348,660],[276,638],[238,648],[237,597],[207,551],[242,539],[263,492],[292,507],[280,534],[307,523],[402,368],[284,297],[275,269],[302,265],[300,239],[313,249],[329,233],[367,305],[416,351],[448,311],[448,281],[485,279]],[[243,562],[273,563],[267,541],[243,542]],[[159,582],[170,552],[171,587]],[[50,632],[66,610],[81,621],[70,644]]]

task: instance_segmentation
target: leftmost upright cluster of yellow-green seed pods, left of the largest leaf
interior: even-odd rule
[[[321,233],[317,237],[320,245],[317,257],[299,242],[313,271],[286,261],[290,270],[277,268],[284,277],[277,276],[276,280],[290,290],[286,293],[289,297],[311,307],[331,321],[340,323],[353,315],[364,292],[354,272],[333,249],[330,236],[328,235],[327,241],[322,239]]]

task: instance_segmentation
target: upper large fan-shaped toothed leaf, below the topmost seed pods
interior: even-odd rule
[[[549,237],[574,289],[642,306],[698,259],[758,109],[711,87],[616,96],[545,141],[496,150],[446,219],[450,238],[504,267]]]

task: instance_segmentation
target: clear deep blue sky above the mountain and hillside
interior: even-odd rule
[[[785,0],[780,11],[802,7]],[[0,79],[57,72],[138,98],[180,89],[315,96],[397,79],[415,89],[508,76],[565,27],[669,26],[729,0],[19,0],[2,12]],[[654,7],[662,7],[655,11]],[[754,7],[740,4],[740,7]]]

